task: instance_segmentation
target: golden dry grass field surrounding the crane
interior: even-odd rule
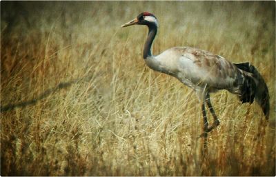
[[[145,26],[120,28],[144,11],[153,54],[252,63],[270,119],[211,94],[204,152],[193,90],[146,66]],[[275,1],[1,1],[1,176],[275,176]]]

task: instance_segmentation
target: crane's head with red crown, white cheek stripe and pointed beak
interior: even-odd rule
[[[155,26],[158,26],[158,22],[157,22],[157,19],[154,14],[151,14],[150,12],[142,12],[132,21],[129,21],[128,23],[125,23],[124,25],[121,25],[121,28],[130,26],[130,25],[148,25],[148,26],[155,25]]]

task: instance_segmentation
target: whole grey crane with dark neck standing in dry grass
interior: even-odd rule
[[[146,65],[157,72],[174,76],[195,90],[201,103],[204,121],[201,137],[207,137],[207,133],[219,125],[219,119],[210,102],[210,93],[218,90],[228,90],[237,94],[242,103],[251,104],[255,98],[268,119],[270,109],[268,87],[253,65],[230,63],[222,56],[190,47],[174,47],[154,56],[151,47],[158,28],[155,15],[142,12],[132,21],[121,25],[121,28],[130,25],[148,26],[148,37],[143,52]],[[210,126],[208,126],[205,103],[214,119]]]

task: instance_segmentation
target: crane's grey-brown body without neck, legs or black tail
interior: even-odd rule
[[[198,92],[225,89],[241,94],[244,72],[219,55],[189,47],[170,48],[158,56],[148,56],[146,64],[158,72],[177,78]]]

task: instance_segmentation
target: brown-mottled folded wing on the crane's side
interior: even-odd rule
[[[242,72],[219,55],[196,48],[172,48],[178,54],[177,78],[187,84],[237,92]]]

